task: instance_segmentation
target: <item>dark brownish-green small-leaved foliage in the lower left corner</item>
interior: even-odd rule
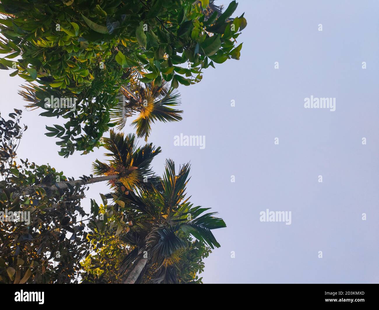
[[[66,180],[63,172],[28,159],[16,163],[26,126],[19,126],[21,111],[15,111],[13,119],[0,117],[0,283],[70,283],[89,253],[85,225],[78,221],[85,215],[80,200],[86,188],[49,192],[44,185]],[[14,195],[25,187],[33,193]]]

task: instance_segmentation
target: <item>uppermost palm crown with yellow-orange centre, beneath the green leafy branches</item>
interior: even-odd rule
[[[139,138],[145,137],[147,141],[151,125],[155,121],[165,123],[182,120],[179,114],[183,111],[172,108],[180,104],[180,94],[170,88],[168,82],[157,83],[154,80],[151,83],[140,83],[138,72],[132,69],[128,70],[126,77],[129,82],[120,87],[116,97],[117,106],[110,112],[118,130],[124,128],[128,117],[138,114],[130,125],[134,125]]]

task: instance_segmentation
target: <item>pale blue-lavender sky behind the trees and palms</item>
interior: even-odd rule
[[[213,231],[221,248],[200,276],[204,283],[378,283],[379,2],[240,0],[232,17],[243,12],[241,59],[180,86],[183,120],[153,125],[148,140],[163,150],[153,169],[162,174],[166,158],[178,168],[190,162],[190,201],[227,224]],[[0,71],[5,118],[26,103],[17,94],[22,79],[9,72]],[[335,98],[335,111],[305,108],[311,96]],[[41,112],[23,112],[19,157],[89,175],[104,149],[58,156],[55,138],[44,133],[62,122]],[[205,148],[175,146],[180,134],[205,136]],[[108,188],[91,185],[85,210],[100,192]],[[267,209],[291,212],[290,224],[261,221]]]

